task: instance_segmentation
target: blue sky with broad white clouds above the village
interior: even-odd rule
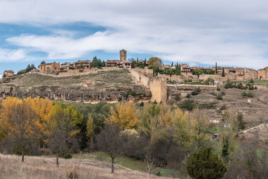
[[[0,76],[41,61],[157,56],[165,64],[268,66],[266,0],[0,0]]]

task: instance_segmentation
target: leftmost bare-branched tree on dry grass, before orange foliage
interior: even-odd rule
[[[27,144],[36,139],[38,128],[36,125],[36,111],[27,103],[13,104],[8,112],[10,139],[21,146],[21,161],[24,162],[24,149]]]

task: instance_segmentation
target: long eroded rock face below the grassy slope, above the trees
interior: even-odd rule
[[[80,90],[68,90],[61,88],[59,86],[40,86],[28,89],[26,92],[10,92],[6,90],[0,93],[3,98],[8,96],[22,97],[26,99],[27,97],[36,98],[48,98],[54,100],[63,100],[69,102],[85,102],[85,103],[96,103],[98,101],[107,102],[118,102],[118,101],[148,101],[151,99],[152,94],[147,89],[139,90],[135,97],[127,95],[128,88],[110,88],[103,89],[98,92],[87,92]]]

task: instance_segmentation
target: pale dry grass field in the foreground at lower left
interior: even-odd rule
[[[143,172],[115,165],[111,174],[110,163],[92,159],[59,159],[59,168],[56,168],[54,157],[25,156],[25,162],[21,163],[21,157],[16,155],[0,154],[0,179],[167,179]]]

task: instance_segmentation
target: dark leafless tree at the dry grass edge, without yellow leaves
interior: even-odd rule
[[[123,139],[117,126],[106,124],[104,129],[96,136],[98,150],[111,157],[111,173],[113,173],[114,159],[123,151]]]

